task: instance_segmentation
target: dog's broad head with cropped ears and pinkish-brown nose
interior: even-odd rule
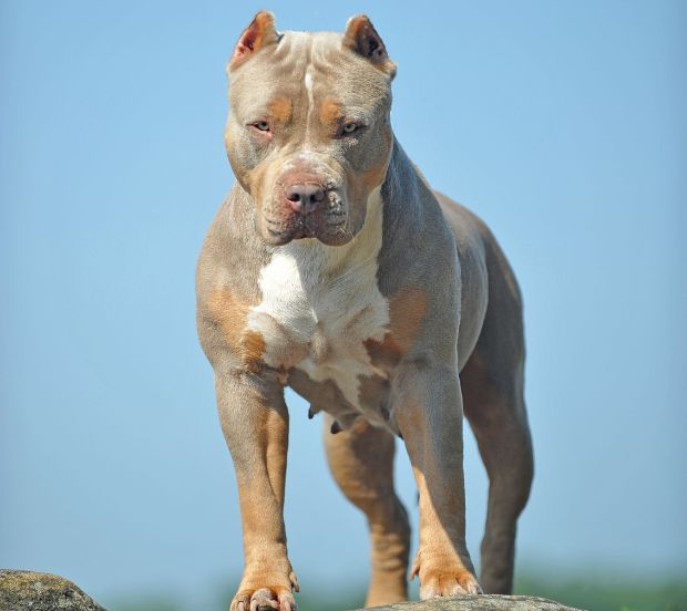
[[[350,241],[386,177],[396,65],[366,17],[346,33],[278,34],[259,12],[228,65],[225,143],[270,245]]]

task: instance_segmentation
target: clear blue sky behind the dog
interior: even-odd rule
[[[242,567],[193,275],[233,183],[224,64],[262,7],[0,4],[0,566],[62,573],[103,603],[202,592]],[[523,566],[685,570],[687,4],[265,7],[284,30],[370,14],[399,64],[397,136],[516,270],[536,452]],[[301,586],[361,582],[362,518],[289,398]],[[471,438],[465,462],[476,556]]]

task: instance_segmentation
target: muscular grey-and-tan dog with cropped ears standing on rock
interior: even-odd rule
[[[367,17],[342,35],[278,33],[259,12],[227,70],[237,182],[196,284],[240,500],[245,571],[232,610],[296,608],[285,385],[310,416],[325,413],[331,473],[368,518],[368,605],[407,597],[394,435],[419,490],[421,597],[510,592],[533,462],[521,297],[503,252],[394,139],[396,64]],[[490,478],[481,587],[465,547],[463,414]]]

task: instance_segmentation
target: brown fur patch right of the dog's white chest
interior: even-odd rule
[[[375,365],[392,367],[410,351],[427,313],[427,293],[406,287],[389,300],[389,331],[381,342],[366,340]]]

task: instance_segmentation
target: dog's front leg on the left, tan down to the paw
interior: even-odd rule
[[[278,381],[215,372],[217,407],[238,484],[245,569],[232,611],[296,609],[287,557],[284,483],[288,412]]]

